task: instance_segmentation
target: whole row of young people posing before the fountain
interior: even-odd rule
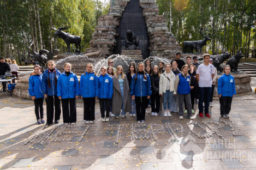
[[[108,67],[100,68],[100,76],[93,71],[93,65],[88,63],[86,71],[78,77],[71,71],[70,63],[64,64],[64,72],[59,72],[53,60],[47,62],[46,71],[41,74],[39,65],[34,66],[29,78],[29,95],[35,104],[35,114],[38,124],[45,123],[43,102],[46,99],[46,125],[59,123],[61,116],[61,102],[63,123],[76,123],[76,99],[84,101],[84,121],[94,123],[96,99],[99,99],[102,122],[109,122],[109,117],[125,118],[136,116],[138,123],[145,122],[147,107],[151,105],[151,115],[158,116],[164,109],[164,116],[171,113],[183,119],[194,119],[194,101],[199,98],[199,117],[210,118],[209,104],[212,101],[217,70],[211,64],[210,54],[204,54],[204,63],[197,63],[197,57],[187,56],[186,63],[176,53],[176,59],[171,63],[159,62],[151,65],[151,60],[136,64],[131,62],[124,74],[121,65],[115,69],[113,60],[109,60]],[[234,77],[230,74],[230,66],[224,67],[224,74],[218,80],[218,95],[221,104],[221,116],[228,118],[231,101],[236,94]],[[185,110],[183,109],[185,104]]]

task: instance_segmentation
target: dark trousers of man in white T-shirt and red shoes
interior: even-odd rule
[[[205,101],[205,113],[209,113],[209,102],[212,93],[212,87],[199,87],[200,88],[200,95],[199,95],[199,113],[203,113],[204,106],[203,102]]]

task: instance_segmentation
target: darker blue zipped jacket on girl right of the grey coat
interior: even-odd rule
[[[147,80],[144,79],[143,74],[136,74],[137,80],[135,81],[135,77],[133,76],[132,82],[130,83],[130,95],[135,97],[138,96],[151,96],[151,81],[150,76],[148,74],[145,74],[147,76]]]

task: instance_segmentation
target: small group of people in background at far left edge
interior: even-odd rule
[[[10,71],[12,75],[15,75],[16,78],[18,78],[19,66],[16,63],[16,60],[0,57],[0,76],[4,76],[7,71]],[[13,79],[12,82],[15,83],[15,80]],[[2,82],[2,86],[3,92],[5,92],[7,89],[6,82]]]

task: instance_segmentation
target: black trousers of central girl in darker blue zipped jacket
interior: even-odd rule
[[[145,120],[145,110],[148,105],[147,96],[135,97],[137,121]]]

